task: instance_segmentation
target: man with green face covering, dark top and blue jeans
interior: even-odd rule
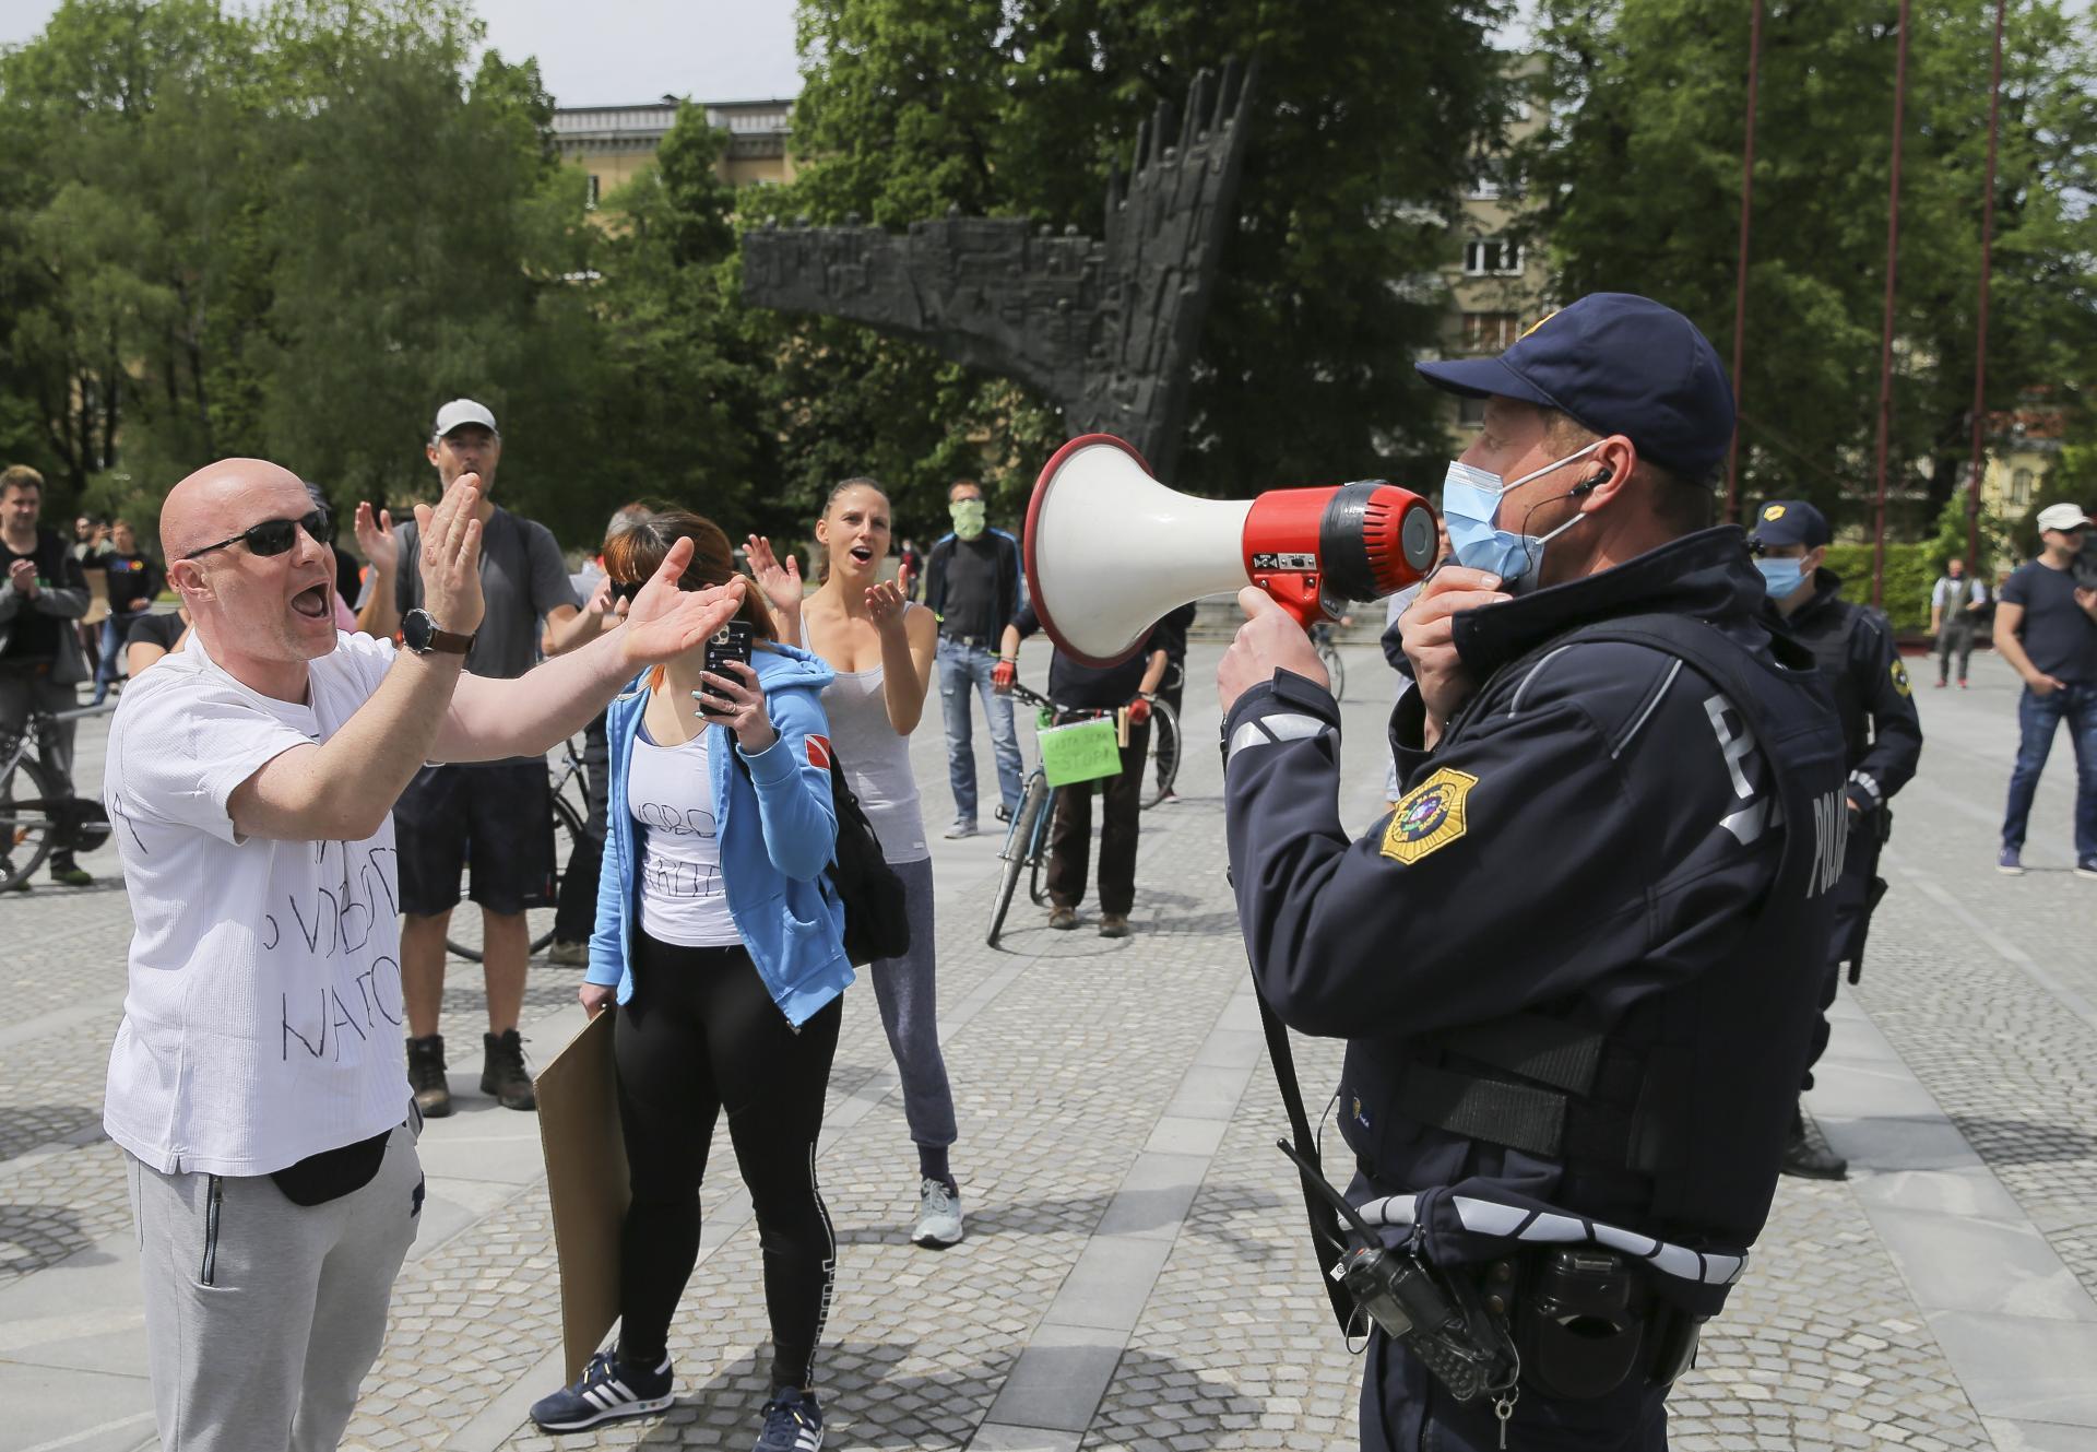
[[[946,711],[946,776],[954,789],[948,837],[975,835],[975,745],[969,690],[983,699],[990,745],[998,757],[998,820],[1019,806],[1019,730],[1011,697],[992,690],[996,644],[1019,613],[1019,541],[983,527],[983,491],[963,478],[946,491],[954,533],[931,548],[925,604],[939,621],[939,705]]]

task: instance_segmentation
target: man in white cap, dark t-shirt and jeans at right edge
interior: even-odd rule
[[[2076,583],[2076,556],[2091,518],[2074,504],[2038,512],[2040,556],[2003,585],[1994,608],[1994,648],[2024,676],[2017,701],[2017,766],[2003,812],[1996,871],[2024,871],[2024,827],[2038,795],[2038,774],[2066,720],[2076,751],[2076,875],[2097,877],[2097,590]]]

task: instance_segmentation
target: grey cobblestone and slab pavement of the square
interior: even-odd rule
[[[902,1095],[868,990],[847,997],[820,1158],[839,1238],[818,1362],[826,1446],[1355,1444],[1361,1360],[1329,1324],[1294,1171],[1273,1148],[1281,1108],[1223,881],[1214,655],[1195,648],[1183,802],[1143,820],[1134,938],[1053,934],[1019,902],[990,951],[996,844],[937,846],[969,1211],[954,1251],[904,1240],[916,1175]],[[1040,674],[1038,653],[1028,669]],[[1858,1177],[1785,1181],[1671,1397],[1678,1448],[2097,1446],[2097,883],[2066,871],[2066,747],[2028,852],[2047,871],[1992,873],[2015,703],[1992,659],[1975,680],[1923,692],[1929,749],[1898,804],[1894,890],[1812,1099]],[[1357,827],[1382,795],[1386,684],[1376,653],[1353,648]],[[90,724],[88,783],[99,751]],[[914,760],[937,835],[937,722]],[[979,774],[994,781],[988,755]],[[111,871],[113,856],[88,864]],[[111,885],[0,904],[0,1404],[73,1391],[57,1416],[0,1418],[0,1452],[153,1446],[122,1156],[99,1133],[128,927]],[[524,1018],[541,1062],[579,1024],[572,986],[572,969],[533,967]],[[472,1093],[482,1026],[478,969],[455,963],[445,1034],[468,1093],[424,1135],[430,1211],[348,1446],[749,1446],[770,1330],[726,1135],[671,1343],[677,1404],[560,1442],[524,1421],[560,1376],[558,1274],[537,1123]],[[1317,1108],[1338,1045],[1298,1041],[1298,1068]],[[1961,1234],[1994,1240],[1963,1251]],[[2042,1376],[2049,1355],[2072,1366],[2082,1347],[2080,1385]]]

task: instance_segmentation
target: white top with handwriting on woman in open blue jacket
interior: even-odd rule
[[[713,730],[682,747],[658,747],[644,734],[627,766],[627,810],[640,827],[642,932],[688,948],[742,942],[721,883],[709,736]]]

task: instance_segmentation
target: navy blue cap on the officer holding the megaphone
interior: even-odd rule
[[[1623,434],[1640,457],[1690,478],[1717,468],[1732,443],[1732,384],[1711,340],[1629,292],[1592,292],[1548,313],[1497,359],[1415,367],[1449,392],[1497,392]]]

